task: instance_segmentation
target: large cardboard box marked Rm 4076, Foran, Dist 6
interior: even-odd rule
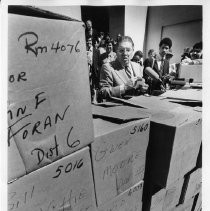
[[[12,8],[8,146],[13,137],[31,172],[93,141],[85,31],[68,17]]]

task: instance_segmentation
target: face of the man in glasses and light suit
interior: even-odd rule
[[[123,66],[128,66],[133,56],[133,46],[129,41],[119,43],[117,48],[117,59]]]

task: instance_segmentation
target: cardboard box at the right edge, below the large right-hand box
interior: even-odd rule
[[[187,176],[187,185],[185,187],[185,195],[184,195],[184,201],[187,201],[188,199],[194,197],[197,193],[201,191],[201,185],[202,185],[202,169],[199,168],[192,172],[189,176]]]

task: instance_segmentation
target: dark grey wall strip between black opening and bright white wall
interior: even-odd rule
[[[124,6],[109,7],[109,33],[113,39],[116,39],[119,33],[124,35],[124,18]]]

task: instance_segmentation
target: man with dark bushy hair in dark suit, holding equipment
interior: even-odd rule
[[[155,58],[149,57],[144,61],[144,77],[146,82],[150,85],[150,94],[152,94],[154,90],[161,90],[163,87],[162,85],[165,85],[171,78],[169,74],[169,60],[166,59],[166,55],[169,53],[171,47],[171,39],[163,38],[159,43],[159,55],[156,55]],[[159,75],[160,80],[148,77],[145,74],[145,72],[148,71],[155,71]]]

